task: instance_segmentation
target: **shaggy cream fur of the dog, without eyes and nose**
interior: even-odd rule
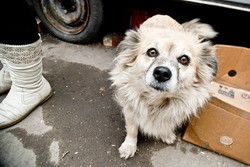
[[[126,33],[110,72],[127,130],[120,157],[134,156],[138,129],[173,143],[175,129],[207,102],[210,81],[217,72],[215,49],[208,39],[216,34],[197,19],[181,25],[166,15],[149,18],[139,29]],[[156,48],[159,55],[147,56],[149,48]],[[190,58],[186,66],[177,60],[182,55]],[[158,66],[170,69],[169,81],[155,80],[153,71]]]

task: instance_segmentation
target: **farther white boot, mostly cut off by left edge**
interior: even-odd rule
[[[1,62],[3,68],[0,71],[0,95],[6,93],[11,87],[10,73],[6,67],[5,61]]]

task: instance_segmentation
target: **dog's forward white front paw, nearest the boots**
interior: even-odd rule
[[[133,157],[136,152],[136,145],[131,145],[123,142],[119,148],[120,157],[124,159],[128,159],[129,157]]]

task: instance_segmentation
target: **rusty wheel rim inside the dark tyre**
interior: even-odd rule
[[[89,21],[88,0],[41,0],[42,11],[57,30],[64,34],[82,32]]]

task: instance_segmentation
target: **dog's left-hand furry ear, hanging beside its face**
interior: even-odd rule
[[[131,66],[136,59],[139,48],[140,35],[138,30],[129,30],[125,38],[117,47],[116,59],[121,60],[123,66]]]

